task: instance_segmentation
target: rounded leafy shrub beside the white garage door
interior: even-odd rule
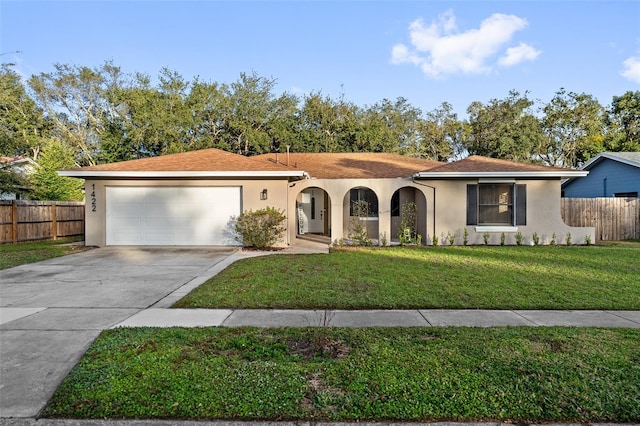
[[[246,247],[273,247],[286,230],[285,219],[284,211],[274,207],[245,211],[237,219],[236,240]]]

